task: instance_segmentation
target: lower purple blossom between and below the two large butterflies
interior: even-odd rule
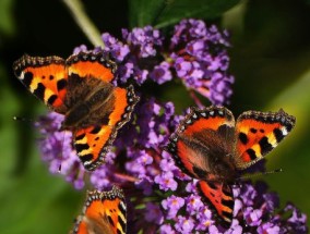
[[[112,184],[126,189],[132,200],[129,233],[307,233],[306,214],[290,204],[277,211],[278,196],[269,193],[263,183],[236,185],[233,224],[228,230],[218,224],[213,209],[201,201],[196,180],[183,174],[163,150],[180,120],[174,113],[171,102],[142,99],[134,111],[140,118],[121,130],[127,134],[120,132],[106,163],[90,175],[98,189],[109,189]],[[58,132],[62,119],[50,113],[39,121],[46,134],[40,149],[51,171],[61,165],[60,173],[80,189],[88,172],[80,165],[68,133]]]

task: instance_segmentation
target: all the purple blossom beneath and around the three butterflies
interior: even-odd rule
[[[223,104],[231,96],[234,82],[227,75],[227,37],[202,21],[184,20],[175,27],[168,46],[151,26],[122,30],[121,40],[107,33],[102,38],[104,50],[118,63],[116,84],[133,78],[142,85],[150,78],[160,85],[176,77],[212,103]],[[74,52],[85,50],[81,46]],[[183,174],[164,150],[181,119],[174,103],[142,95],[132,115],[119,131],[106,163],[90,173],[72,148],[71,134],[59,132],[63,115],[49,113],[37,122],[45,135],[39,141],[43,159],[76,189],[83,188],[86,178],[98,189],[114,184],[126,189],[131,200],[129,233],[307,233],[303,213],[290,204],[278,211],[277,195],[263,183],[250,182],[234,187],[234,221],[228,229],[222,226],[211,207],[201,201],[196,181]]]

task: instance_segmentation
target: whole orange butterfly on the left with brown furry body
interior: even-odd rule
[[[86,170],[95,170],[139,101],[133,87],[116,87],[117,65],[103,53],[80,52],[67,60],[23,56],[14,62],[17,78],[51,110],[63,114]]]

